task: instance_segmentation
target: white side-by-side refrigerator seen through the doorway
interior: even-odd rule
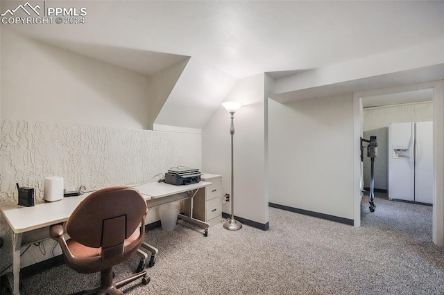
[[[433,122],[388,125],[388,199],[433,204]]]

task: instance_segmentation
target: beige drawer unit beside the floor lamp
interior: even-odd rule
[[[212,184],[198,190],[194,197],[193,218],[213,226],[222,220],[222,177],[221,175],[203,174],[200,179]],[[185,215],[189,215],[190,207],[189,199],[185,200]]]

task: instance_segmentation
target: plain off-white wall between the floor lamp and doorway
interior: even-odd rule
[[[352,94],[268,101],[270,202],[353,219]]]

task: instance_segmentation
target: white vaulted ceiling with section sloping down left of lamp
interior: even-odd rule
[[[85,24],[11,29],[146,75],[191,57],[158,117],[177,125],[180,105],[208,106],[202,117],[189,115],[185,127],[203,127],[237,79],[266,72],[279,80],[444,38],[443,1],[59,4],[87,8]]]

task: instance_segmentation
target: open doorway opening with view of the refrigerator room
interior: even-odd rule
[[[376,136],[377,157],[374,159],[374,186],[375,200],[377,206],[375,213],[370,213],[368,197],[370,195],[370,158],[364,154],[364,197],[361,204],[361,225],[370,226],[375,229],[385,229],[394,233],[409,235],[414,240],[424,242],[432,241],[432,205],[433,202],[433,142],[432,142],[432,121],[433,121],[433,89],[418,89],[405,92],[389,93],[379,96],[366,96],[361,98],[363,106],[362,132],[363,138]],[[392,124],[393,123],[393,124]],[[405,139],[409,150],[400,152],[402,157],[394,158],[398,154],[389,151],[389,146],[400,144],[390,140],[389,125],[391,131],[398,128],[399,137]],[[427,142],[414,145],[415,132],[411,128],[414,126],[426,125]],[[422,136],[418,136],[419,139]],[[390,143],[391,141],[391,143]],[[416,157],[415,147],[420,146],[417,152],[421,152],[422,157]],[[416,161],[418,160],[418,161]],[[422,160],[422,161],[420,161]],[[427,160],[427,161],[425,161]],[[427,163],[427,165],[419,165]],[[391,164],[391,165],[390,165]],[[390,167],[392,167],[392,171]],[[393,172],[393,169],[398,172]],[[399,171],[399,170],[402,171]],[[416,172],[416,170],[418,170]],[[430,176],[422,179],[422,186],[425,186],[420,193],[415,194],[417,186],[416,180],[420,179],[422,172],[427,172]],[[392,179],[390,179],[390,176]],[[417,177],[418,176],[418,177]],[[421,197],[426,197],[422,200]],[[410,199],[409,197],[413,197]],[[393,198],[393,199],[392,199]],[[416,203],[398,202],[402,198],[415,201]],[[389,201],[389,199],[392,199]],[[395,202],[396,201],[396,202]],[[427,201],[427,202],[426,202]],[[421,202],[422,204],[420,204]]]

